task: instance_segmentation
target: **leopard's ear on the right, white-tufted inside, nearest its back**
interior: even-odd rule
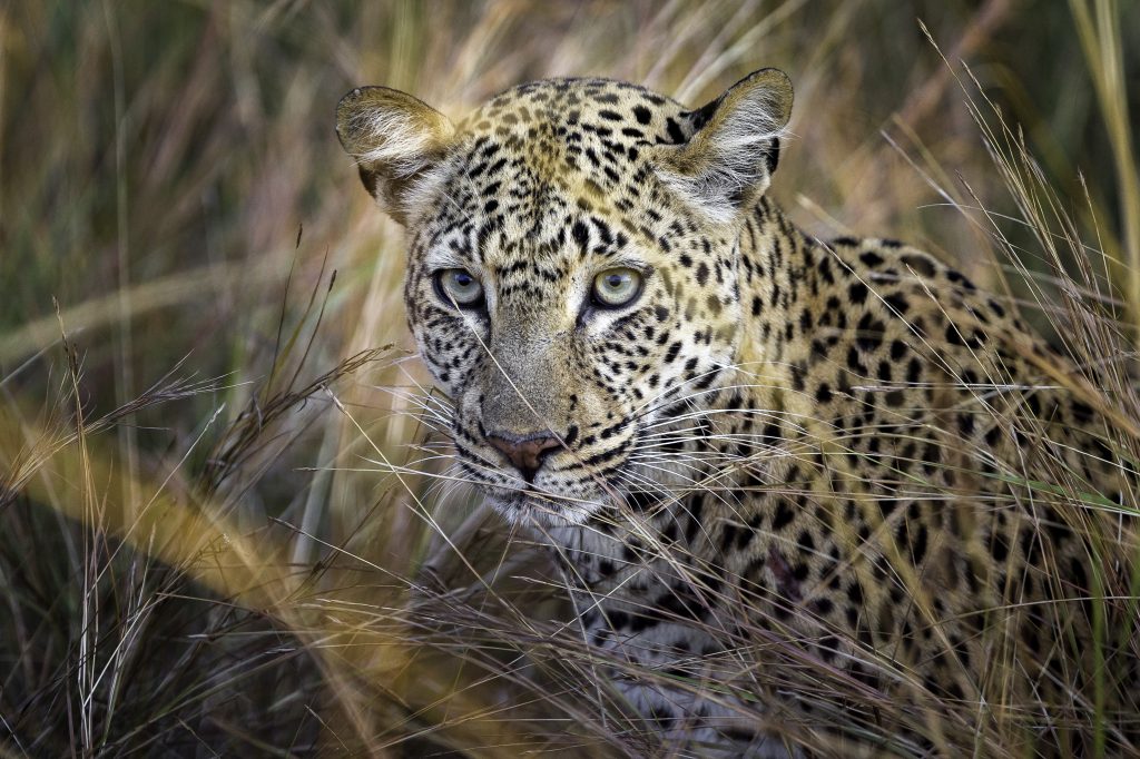
[[[686,114],[689,139],[662,152],[661,178],[714,219],[733,219],[768,188],[791,103],[791,81],[782,71],[749,74]]]

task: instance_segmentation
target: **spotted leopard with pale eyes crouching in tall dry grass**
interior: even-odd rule
[[[943,703],[1021,756],[1083,753],[1093,715],[1140,749],[1135,622],[1096,620],[1137,545],[1096,376],[935,255],[795,226],[792,100],[775,68],[697,108],[589,77],[455,122],[340,100],[457,471],[670,756],[977,751]]]

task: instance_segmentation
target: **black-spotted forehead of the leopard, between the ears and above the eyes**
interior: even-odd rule
[[[506,90],[458,124],[449,161],[424,181],[432,212],[421,242],[430,248],[479,228],[483,239],[464,253],[503,258],[504,246],[486,245],[492,234],[531,255],[564,248],[568,238],[596,255],[620,252],[630,238],[660,248],[670,225],[682,231],[683,209],[650,156],[689,140],[702,119],[626,82],[556,79]]]

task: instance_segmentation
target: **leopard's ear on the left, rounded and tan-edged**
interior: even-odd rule
[[[365,189],[404,225],[454,134],[447,116],[386,87],[357,88],[336,105],[336,136]]]

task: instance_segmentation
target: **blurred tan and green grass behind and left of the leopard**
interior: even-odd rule
[[[1000,232],[1048,292],[1058,272],[1005,218],[968,93],[1037,158],[1126,308],[1135,50],[1132,2],[0,2],[5,753],[280,756],[349,735],[398,753],[447,721],[396,680],[337,674],[309,618],[260,613],[279,597],[230,603],[264,578],[170,570],[212,537],[164,553],[108,505],[197,504],[203,534],[276,568],[291,598],[327,598],[340,562],[337,587],[374,611],[446,574],[442,534],[496,534],[462,483],[417,474],[446,451],[408,354],[400,231],[333,131],[350,88],[459,117],[536,77],[698,106],[780,67],[795,138],[772,191],[807,231],[903,238],[1003,287]],[[361,691],[394,705],[361,716],[343,696]]]

